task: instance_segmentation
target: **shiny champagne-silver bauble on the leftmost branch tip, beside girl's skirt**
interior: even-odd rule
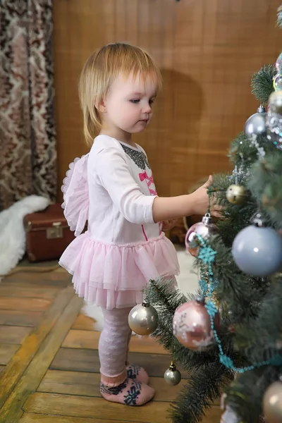
[[[157,310],[149,305],[146,300],[142,304],[137,304],[128,314],[128,325],[137,335],[149,335],[158,326]]]

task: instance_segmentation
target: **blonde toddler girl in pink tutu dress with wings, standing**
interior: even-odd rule
[[[190,195],[158,197],[146,153],[133,142],[132,135],[149,125],[160,87],[159,68],[142,49],[116,43],[94,51],[79,83],[91,149],[70,165],[62,188],[64,213],[77,238],[60,264],[73,275],[76,293],[103,309],[101,393],[127,405],[154,396],[145,369],[127,363],[128,313],[142,302],[149,279],[164,276],[175,284],[176,250],[162,231],[173,219],[204,214],[208,207],[210,180]]]

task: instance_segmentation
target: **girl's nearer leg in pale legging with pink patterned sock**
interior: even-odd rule
[[[125,367],[130,309],[103,309],[104,329],[99,339],[101,393],[114,403],[142,405],[154,396],[154,389],[128,379]]]

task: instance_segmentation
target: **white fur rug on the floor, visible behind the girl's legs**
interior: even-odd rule
[[[198,288],[198,276],[192,270],[194,258],[184,248],[179,249],[177,255],[180,264],[180,275],[177,277],[178,288],[183,293],[195,293]],[[85,302],[82,313],[94,319],[95,331],[102,331],[104,319],[100,307],[89,305]]]

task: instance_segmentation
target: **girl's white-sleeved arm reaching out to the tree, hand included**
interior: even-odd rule
[[[157,197],[142,193],[119,149],[102,149],[97,154],[95,168],[99,183],[125,219],[132,223],[154,223],[207,212],[207,188],[212,183],[212,177],[192,194]],[[216,212],[214,215],[217,215]]]

